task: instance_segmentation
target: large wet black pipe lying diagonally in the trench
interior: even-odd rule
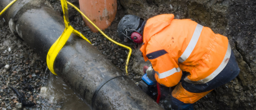
[[[10,2],[0,0],[0,10]],[[44,60],[65,28],[63,18],[45,0],[18,0],[2,17]],[[56,57],[54,71],[92,109],[162,109],[90,43],[74,34]]]

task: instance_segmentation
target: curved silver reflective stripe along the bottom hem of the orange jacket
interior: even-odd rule
[[[211,73],[209,76],[207,76],[206,78],[199,80],[199,81],[191,81],[188,79],[188,77],[184,78],[184,81],[193,83],[193,84],[205,84],[205,83],[211,81],[214,77],[216,77],[226,67],[226,65],[228,64],[230,55],[231,55],[231,46],[228,43],[228,49],[227,49],[226,55],[225,55],[224,59],[222,60],[220,66],[213,73]]]

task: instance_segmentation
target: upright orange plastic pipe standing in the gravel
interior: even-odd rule
[[[106,29],[115,19],[116,0],[79,0],[80,10],[100,29]],[[86,25],[92,32],[98,30],[84,17]]]

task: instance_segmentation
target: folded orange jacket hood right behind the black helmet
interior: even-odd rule
[[[147,20],[146,25],[143,29],[143,45],[140,49],[143,53],[145,61],[148,60],[145,55],[148,41],[153,35],[163,30],[163,28],[165,28],[166,26],[170,25],[173,18],[173,14],[161,14]]]

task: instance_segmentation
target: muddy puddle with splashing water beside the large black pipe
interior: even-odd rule
[[[45,75],[45,84],[39,94],[42,97],[41,110],[91,110],[59,76],[52,73]]]

